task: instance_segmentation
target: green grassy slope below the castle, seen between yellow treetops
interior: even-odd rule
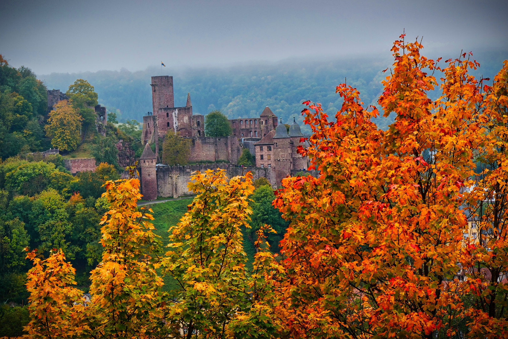
[[[176,225],[183,214],[187,211],[187,205],[192,202],[192,199],[181,199],[162,202],[158,204],[150,205],[149,207],[153,210],[153,217],[155,220],[152,222],[155,226],[155,233],[162,237],[164,246],[169,243],[168,230],[171,226]],[[252,262],[254,260],[255,248],[252,242],[246,235],[244,239],[244,251],[247,254],[248,262],[247,269],[252,268]],[[163,290],[168,291],[175,288],[175,282],[170,277],[164,278]]]

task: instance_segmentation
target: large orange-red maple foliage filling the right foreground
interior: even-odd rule
[[[291,221],[282,252],[294,337],[507,335],[506,66],[483,86],[470,54],[440,67],[401,38],[378,100],[395,114],[388,131],[351,86],[337,87],[334,121],[304,103],[313,134],[299,151],[321,175],[283,179],[274,202]],[[483,246],[464,239],[471,215]]]

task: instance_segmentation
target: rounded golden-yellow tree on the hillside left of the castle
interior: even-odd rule
[[[44,127],[51,138],[51,145],[59,150],[74,150],[79,143],[79,129],[83,118],[65,100],[55,104],[49,112],[48,125]]]

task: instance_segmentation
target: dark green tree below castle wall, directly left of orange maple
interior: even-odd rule
[[[260,186],[249,198],[252,199],[252,215],[249,223],[251,238],[263,225],[270,225],[276,233],[269,233],[268,240],[270,240],[273,250],[277,252],[278,241],[284,236],[289,223],[282,219],[282,213],[272,205],[272,201],[275,199],[272,186],[270,184]]]

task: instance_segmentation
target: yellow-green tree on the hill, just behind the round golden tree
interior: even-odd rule
[[[90,123],[96,120],[94,106],[98,104],[99,96],[90,83],[83,79],[77,79],[66,92],[72,107],[78,110],[84,121]]]

